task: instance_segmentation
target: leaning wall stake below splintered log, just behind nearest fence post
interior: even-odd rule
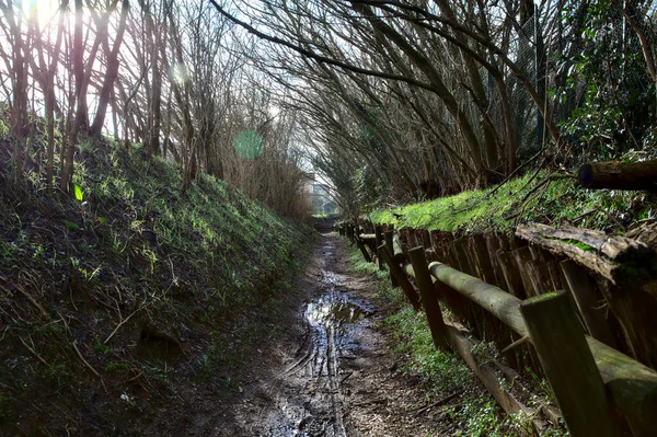
[[[595,285],[588,274],[570,260],[560,263],[564,274],[565,283],[573,296],[587,331],[593,338],[599,340],[608,346],[616,347],[609,324],[604,320],[604,311],[596,296]]]

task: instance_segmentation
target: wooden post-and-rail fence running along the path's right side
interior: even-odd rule
[[[385,239],[381,241],[377,233],[364,233],[354,225],[342,223],[337,226],[337,230],[361,250],[367,246],[377,258],[385,261],[391,276],[396,279],[412,304],[418,309],[422,303],[425,308],[436,347],[446,349],[449,343],[473,368],[505,411],[527,409],[512,396],[509,399],[508,393],[500,393],[499,384],[491,381],[485,369],[482,370],[484,366],[471,363],[472,354],[464,348],[466,338],[442,320],[438,298],[449,303],[447,295],[456,291],[502,321],[520,336],[519,341],[507,348],[523,342],[533,344],[570,435],[619,435],[618,426],[612,421],[612,407],[623,413],[634,436],[655,435],[657,371],[585,334],[575,317],[575,300],[566,292],[519,299],[445,263],[435,261],[427,264],[424,245],[404,252],[399,239],[391,232],[384,232]],[[381,244],[378,245],[379,241]],[[485,255],[489,256],[489,253]],[[369,254],[366,258],[371,260]],[[430,287],[428,277],[434,283]],[[418,299],[408,278],[416,284],[422,299]],[[579,304],[578,301],[576,303]],[[554,320],[546,315],[551,312],[555,314],[552,318]],[[537,425],[534,421],[534,427],[540,430],[541,425]]]

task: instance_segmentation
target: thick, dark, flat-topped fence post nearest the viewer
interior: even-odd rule
[[[520,312],[570,435],[618,436],[600,371],[567,294],[528,299]]]

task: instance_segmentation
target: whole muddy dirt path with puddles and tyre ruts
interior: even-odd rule
[[[255,368],[218,436],[439,436],[417,382],[399,372],[385,303],[348,272],[344,240],[320,243],[289,335]],[[293,319],[295,320],[295,319]],[[268,354],[269,355],[269,354]],[[230,418],[229,418],[230,417]]]

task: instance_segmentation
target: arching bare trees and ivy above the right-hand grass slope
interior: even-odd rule
[[[212,3],[263,39],[351,212],[655,148],[652,0]]]

